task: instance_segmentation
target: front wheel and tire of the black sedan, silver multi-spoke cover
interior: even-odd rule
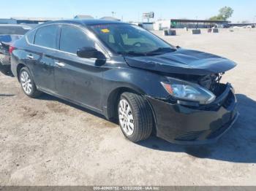
[[[154,125],[151,107],[145,98],[135,93],[121,94],[118,120],[124,136],[132,142],[148,139]]]

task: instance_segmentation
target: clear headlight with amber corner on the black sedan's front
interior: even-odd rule
[[[174,98],[185,101],[197,101],[199,104],[210,104],[216,96],[200,85],[174,80],[173,82],[162,82],[167,93]]]

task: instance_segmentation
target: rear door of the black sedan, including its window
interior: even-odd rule
[[[34,61],[32,73],[40,88],[51,93],[56,92],[54,83],[54,66],[57,49],[59,25],[43,26],[34,36],[34,47],[27,58]]]

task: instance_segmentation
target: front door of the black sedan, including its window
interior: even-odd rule
[[[56,54],[57,92],[65,98],[101,111],[102,67],[96,66],[96,59],[79,58],[76,52],[81,47],[97,48],[97,45],[81,28],[62,25],[60,51]]]

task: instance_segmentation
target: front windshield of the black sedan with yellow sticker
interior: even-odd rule
[[[139,26],[102,24],[89,28],[110,50],[118,54],[155,55],[176,50],[175,47]]]

